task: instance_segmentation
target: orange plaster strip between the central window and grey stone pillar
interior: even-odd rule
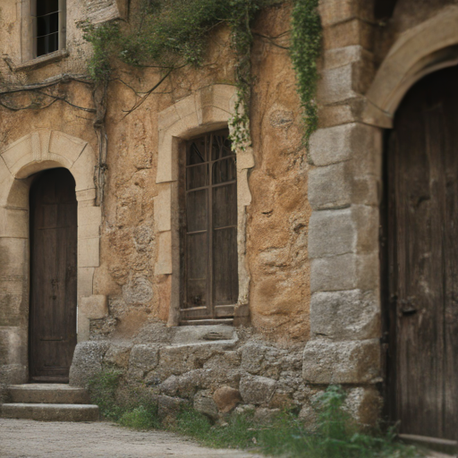
[[[290,14],[288,6],[269,9],[256,32],[280,36],[290,28]],[[278,44],[287,46],[288,39]],[[252,323],[274,339],[304,341],[310,332],[311,209],[295,75],[288,53],[263,40],[257,40],[252,62],[257,81],[251,106],[256,166],[250,174],[247,244]]]

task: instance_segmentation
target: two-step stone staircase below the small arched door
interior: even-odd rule
[[[0,417],[39,421],[98,421],[98,406],[83,388],[63,384],[10,385]]]

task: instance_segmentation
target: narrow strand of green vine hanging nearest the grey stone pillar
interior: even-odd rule
[[[318,0],[295,0],[293,7],[291,57],[303,109],[305,141],[318,128],[316,101],[318,68],[321,51],[321,21]]]

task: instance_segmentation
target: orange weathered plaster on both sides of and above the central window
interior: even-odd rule
[[[273,8],[259,18],[257,30],[263,35],[280,34],[289,27],[289,14],[288,7]],[[212,41],[206,59],[211,64],[199,71],[175,72],[158,95],[125,118],[123,110],[133,105],[135,97],[122,83],[110,87],[106,219],[102,265],[95,276],[98,293],[109,297],[110,315],[92,323],[94,335],[125,336],[145,319],[167,318],[169,279],[154,274],[157,112],[196,89],[233,81],[235,60],[228,30],[217,30]],[[269,338],[303,341],[309,336],[308,165],[294,74],[287,52],[260,40],[253,51],[253,71],[257,83],[250,121],[256,165],[250,174],[253,201],[247,231],[252,324]],[[148,90],[159,78],[155,72],[131,69],[120,74],[141,90]]]

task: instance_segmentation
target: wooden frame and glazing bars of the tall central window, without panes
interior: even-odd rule
[[[237,202],[237,174],[235,174],[235,178],[233,180],[229,180],[224,183],[216,184],[213,183],[212,180],[212,173],[213,168],[212,166],[224,160],[225,158],[233,157],[235,166],[236,166],[236,152],[231,148],[232,154],[227,157],[218,158],[213,160],[211,157],[211,144],[213,141],[214,136],[225,136],[228,137],[229,131],[228,129],[222,129],[217,131],[208,131],[202,133],[198,136],[194,136],[188,140],[182,142],[182,148],[180,151],[180,164],[179,164],[179,208],[180,208],[180,216],[179,216],[179,240],[180,240],[180,324],[181,325],[194,325],[194,324],[215,324],[215,323],[227,323],[233,321],[234,317],[234,310],[238,302],[238,295],[239,295],[239,266],[238,266],[238,259],[235,259],[235,267],[236,272],[232,273],[235,274],[236,284],[237,284],[237,291],[235,292],[235,298],[233,299],[232,303],[230,304],[217,304],[216,297],[215,297],[215,268],[214,268],[214,231],[218,228],[213,226],[213,190],[219,186],[227,186],[227,185],[235,185],[235,201]],[[187,231],[187,196],[193,190],[187,190],[187,171],[195,165],[188,165],[187,164],[187,157],[189,148],[191,146],[191,142],[199,139],[206,140],[206,148],[208,148],[208,158],[205,163],[202,165],[208,165],[208,184],[206,184],[203,188],[199,187],[198,190],[207,189],[207,286],[206,286],[206,303],[204,306],[200,307],[188,307],[188,298],[187,298],[187,290],[188,290],[188,275],[189,275],[189,268],[187,266],[187,242],[188,242],[188,231]],[[235,214],[233,215],[235,218],[235,224],[230,225],[235,229],[235,239],[234,239],[234,246],[233,249],[235,253],[238,250],[238,242],[237,242],[237,205],[235,207]],[[229,226],[228,226],[229,227]],[[223,229],[223,228],[220,228]],[[237,256],[237,255],[235,255]]]

